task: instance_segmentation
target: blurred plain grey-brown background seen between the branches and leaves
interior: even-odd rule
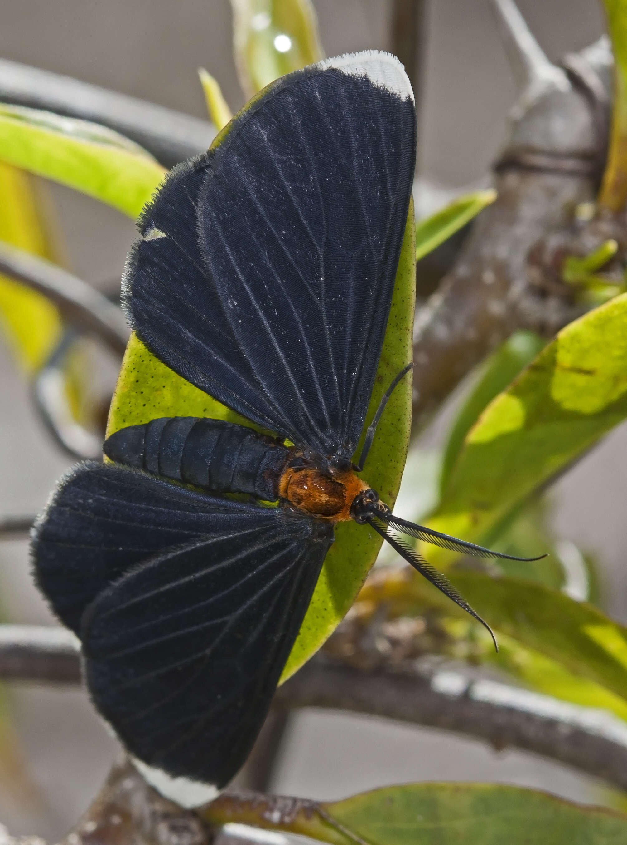
[[[390,46],[386,0],[314,0],[327,55]],[[550,58],[578,50],[603,32],[597,0],[520,0],[522,14]],[[488,0],[426,4],[424,92],[419,113],[419,176],[441,188],[481,180],[505,140],[516,87]],[[228,0],[0,0],[0,57],[68,74],[206,117],[197,68],[217,77],[230,106],[244,101],[231,54]],[[134,226],[114,210],[50,186],[68,267],[111,289],[122,272]],[[417,196],[419,208],[426,199]],[[29,387],[0,341],[0,515],[41,509],[70,465],[35,418]],[[443,439],[446,409],[422,445]],[[627,621],[627,429],[615,430],[554,486],[560,537],[594,554],[603,606]],[[0,543],[4,619],[54,624],[30,581],[25,541]],[[7,706],[19,732],[23,771],[0,782],[0,821],[12,833],[55,838],[100,787],[116,743],[79,690],[14,685]],[[393,782],[508,782],[583,802],[611,803],[600,783],[564,766],[470,739],[347,714],[303,711],[292,718],[273,791],[335,799]],[[16,796],[21,795],[18,800]]]

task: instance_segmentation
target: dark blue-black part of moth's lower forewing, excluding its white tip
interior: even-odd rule
[[[312,542],[318,532],[325,539]],[[85,675],[133,755],[223,787],[251,750],[327,553],[311,521],[164,553],[85,613]]]

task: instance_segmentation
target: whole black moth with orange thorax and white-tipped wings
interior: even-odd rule
[[[353,464],[414,155],[403,67],[357,53],[269,85],[143,212],[125,271],[134,330],[278,437],[192,417],[123,428],[105,443],[115,463],[62,478],[33,557],[82,642],[95,706],[181,804],[211,798],[246,760],[336,522],[368,522],[473,613],[408,537],[491,553],[397,519],[357,475],[385,400]]]

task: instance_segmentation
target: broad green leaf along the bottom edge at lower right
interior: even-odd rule
[[[410,783],[322,804],[369,845],[622,845],[627,816],[531,789],[489,783]],[[329,837],[327,841],[334,840]]]

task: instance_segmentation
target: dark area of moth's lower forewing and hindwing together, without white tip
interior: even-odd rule
[[[35,527],[35,576],[95,706],[149,766],[224,785],[248,755],[332,527],[84,463]]]

